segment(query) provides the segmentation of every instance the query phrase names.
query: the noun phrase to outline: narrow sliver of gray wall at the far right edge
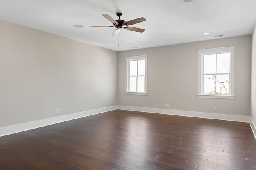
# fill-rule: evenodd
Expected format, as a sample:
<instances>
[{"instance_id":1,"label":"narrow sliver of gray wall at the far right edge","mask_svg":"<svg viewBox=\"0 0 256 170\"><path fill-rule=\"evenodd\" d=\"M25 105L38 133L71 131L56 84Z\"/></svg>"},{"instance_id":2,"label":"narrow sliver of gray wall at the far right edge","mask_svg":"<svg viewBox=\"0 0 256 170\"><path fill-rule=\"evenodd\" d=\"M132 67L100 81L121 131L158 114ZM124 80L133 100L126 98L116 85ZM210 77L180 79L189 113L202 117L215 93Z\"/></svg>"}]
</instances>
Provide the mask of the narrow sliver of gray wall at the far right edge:
<instances>
[{"instance_id":1,"label":"narrow sliver of gray wall at the far right edge","mask_svg":"<svg viewBox=\"0 0 256 170\"><path fill-rule=\"evenodd\" d=\"M256 125L256 25L252 33L251 117Z\"/></svg>"}]
</instances>

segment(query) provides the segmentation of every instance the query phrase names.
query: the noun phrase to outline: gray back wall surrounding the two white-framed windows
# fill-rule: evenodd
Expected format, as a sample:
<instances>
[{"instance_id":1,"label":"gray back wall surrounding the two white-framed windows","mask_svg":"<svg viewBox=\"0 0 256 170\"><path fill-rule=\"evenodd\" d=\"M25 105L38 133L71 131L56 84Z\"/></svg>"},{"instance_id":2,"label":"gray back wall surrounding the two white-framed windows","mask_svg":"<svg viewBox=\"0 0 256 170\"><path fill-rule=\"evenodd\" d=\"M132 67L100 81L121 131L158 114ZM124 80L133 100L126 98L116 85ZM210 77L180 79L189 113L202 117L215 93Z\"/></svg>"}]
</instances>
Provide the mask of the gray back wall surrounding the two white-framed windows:
<instances>
[{"instance_id":1,"label":"gray back wall surrounding the two white-framed windows","mask_svg":"<svg viewBox=\"0 0 256 170\"><path fill-rule=\"evenodd\" d=\"M236 46L235 99L198 98L197 50L227 46ZM125 57L136 55L148 55L147 96L124 94ZM249 116L250 75L251 36L122 51L118 52L118 105Z\"/></svg>"}]
</instances>

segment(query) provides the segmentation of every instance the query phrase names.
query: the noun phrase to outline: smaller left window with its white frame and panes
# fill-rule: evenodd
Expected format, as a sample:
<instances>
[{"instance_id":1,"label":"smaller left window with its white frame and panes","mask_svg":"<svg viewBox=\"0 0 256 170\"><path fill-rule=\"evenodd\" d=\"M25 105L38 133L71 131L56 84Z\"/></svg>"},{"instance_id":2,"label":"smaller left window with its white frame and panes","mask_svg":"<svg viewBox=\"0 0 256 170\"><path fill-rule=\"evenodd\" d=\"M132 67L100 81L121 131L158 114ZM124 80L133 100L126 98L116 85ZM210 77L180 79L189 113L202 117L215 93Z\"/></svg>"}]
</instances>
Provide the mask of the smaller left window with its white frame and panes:
<instances>
[{"instance_id":1,"label":"smaller left window with its white frame and panes","mask_svg":"<svg viewBox=\"0 0 256 170\"><path fill-rule=\"evenodd\" d=\"M147 95L147 55L125 57L125 94Z\"/></svg>"}]
</instances>

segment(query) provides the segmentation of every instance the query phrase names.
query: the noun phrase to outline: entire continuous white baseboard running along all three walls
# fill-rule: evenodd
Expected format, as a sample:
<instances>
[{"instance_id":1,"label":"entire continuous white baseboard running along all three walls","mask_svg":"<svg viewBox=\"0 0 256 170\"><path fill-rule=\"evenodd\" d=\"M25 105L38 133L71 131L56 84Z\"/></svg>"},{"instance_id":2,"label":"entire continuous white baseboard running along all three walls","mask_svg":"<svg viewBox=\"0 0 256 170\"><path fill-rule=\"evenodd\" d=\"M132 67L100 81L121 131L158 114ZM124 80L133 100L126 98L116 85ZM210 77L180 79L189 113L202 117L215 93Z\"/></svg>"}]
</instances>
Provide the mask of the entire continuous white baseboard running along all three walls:
<instances>
[{"instance_id":1,"label":"entire continuous white baseboard running along all three walls","mask_svg":"<svg viewBox=\"0 0 256 170\"><path fill-rule=\"evenodd\" d=\"M83 111L80 113L74 113L69 115L52 117L48 119L42 119L38 121L32 121L28 123L22 123L18 125L0 127L0 137L5 135L10 135L13 133L36 129L38 127L52 125L55 123L78 119L81 117L96 115L99 113L104 113L104 112L112 111L116 109L129 110L129 111L141 111L141 112L148 112L148 113L160 113L160 114L168 114L168 115L178 115L178 116L188 116L188 117L199 117L199 118L206 118L206 119L247 122L247 123L250 123L251 129L256 139L256 126L249 116L226 115L226 114L218 114L218 113L204 113L204 112L158 109L158 108L150 108L150 107L134 107L134 106L110 106L110 107L104 107L100 109Z\"/></svg>"}]
</instances>

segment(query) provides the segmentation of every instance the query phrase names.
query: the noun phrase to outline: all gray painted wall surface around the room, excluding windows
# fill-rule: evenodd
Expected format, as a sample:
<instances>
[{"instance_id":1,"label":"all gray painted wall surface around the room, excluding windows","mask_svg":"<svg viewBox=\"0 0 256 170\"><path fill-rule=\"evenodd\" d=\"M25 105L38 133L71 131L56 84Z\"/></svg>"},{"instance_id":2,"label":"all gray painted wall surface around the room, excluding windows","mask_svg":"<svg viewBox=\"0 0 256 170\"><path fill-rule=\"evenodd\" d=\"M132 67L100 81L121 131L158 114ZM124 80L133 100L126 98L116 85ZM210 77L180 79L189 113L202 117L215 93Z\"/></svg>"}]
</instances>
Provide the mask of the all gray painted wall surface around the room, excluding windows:
<instances>
[{"instance_id":1,"label":"all gray painted wall surface around the room, excluding windows","mask_svg":"<svg viewBox=\"0 0 256 170\"><path fill-rule=\"evenodd\" d=\"M114 105L138 106L138 101L140 107L246 116L256 112L255 33L252 39L243 36L117 53L2 20L0 27L0 127ZM198 98L197 50L234 45L235 99ZM137 55L148 55L147 96L124 94L124 57ZM58 115L55 109L60 109Z\"/></svg>"}]
</instances>

